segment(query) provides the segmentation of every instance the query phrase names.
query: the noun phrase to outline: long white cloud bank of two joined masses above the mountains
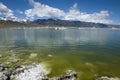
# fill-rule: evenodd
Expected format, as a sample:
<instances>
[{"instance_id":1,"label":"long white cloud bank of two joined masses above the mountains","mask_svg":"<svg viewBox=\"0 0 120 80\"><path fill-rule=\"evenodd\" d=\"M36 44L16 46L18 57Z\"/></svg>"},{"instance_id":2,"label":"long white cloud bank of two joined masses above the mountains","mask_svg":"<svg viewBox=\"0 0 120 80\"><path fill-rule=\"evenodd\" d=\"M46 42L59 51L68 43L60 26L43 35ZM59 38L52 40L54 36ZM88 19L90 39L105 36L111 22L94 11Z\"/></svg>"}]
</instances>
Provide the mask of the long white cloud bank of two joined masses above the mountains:
<instances>
[{"instance_id":1,"label":"long white cloud bank of two joined masses above the mountains","mask_svg":"<svg viewBox=\"0 0 120 80\"><path fill-rule=\"evenodd\" d=\"M95 22L95 23L112 23L111 20L107 19L109 17L109 12L106 10L100 12L94 12L92 14L81 12L77 9L77 3L75 3L68 12L64 12L58 8L54 8L34 0L29 0L33 8L25 11L27 18L37 17L57 17L65 20L79 20L86 22Z\"/></svg>"}]
</instances>

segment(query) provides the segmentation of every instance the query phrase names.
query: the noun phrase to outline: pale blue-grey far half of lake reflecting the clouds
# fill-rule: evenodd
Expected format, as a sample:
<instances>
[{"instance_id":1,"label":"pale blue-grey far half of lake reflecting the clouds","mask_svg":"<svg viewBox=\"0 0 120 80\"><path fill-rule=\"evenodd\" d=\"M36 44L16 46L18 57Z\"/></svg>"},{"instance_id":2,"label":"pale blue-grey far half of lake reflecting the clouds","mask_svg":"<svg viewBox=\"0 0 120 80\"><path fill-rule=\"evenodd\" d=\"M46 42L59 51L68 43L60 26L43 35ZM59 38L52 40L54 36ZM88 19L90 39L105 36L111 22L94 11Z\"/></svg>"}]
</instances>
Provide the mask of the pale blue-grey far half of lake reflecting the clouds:
<instances>
[{"instance_id":1,"label":"pale blue-grey far half of lake reflecting the clouds","mask_svg":"<svg viewBox=\"0 0 120 80\"><path fill-rule=\"evenodd\" d=\"M0 29L0 46L119 46L119 30Z\"/></svg>"}]
</instances>

